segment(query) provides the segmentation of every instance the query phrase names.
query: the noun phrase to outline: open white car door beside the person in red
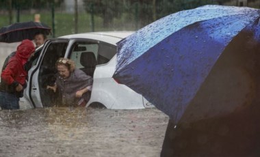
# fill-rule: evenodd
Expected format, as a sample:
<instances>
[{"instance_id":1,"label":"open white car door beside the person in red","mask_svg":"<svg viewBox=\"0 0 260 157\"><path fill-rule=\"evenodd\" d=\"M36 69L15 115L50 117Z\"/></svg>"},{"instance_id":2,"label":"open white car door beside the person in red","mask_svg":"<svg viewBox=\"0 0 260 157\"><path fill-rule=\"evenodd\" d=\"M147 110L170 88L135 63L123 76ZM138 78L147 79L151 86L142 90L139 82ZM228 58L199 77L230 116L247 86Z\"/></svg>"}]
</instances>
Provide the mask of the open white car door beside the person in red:
<instances>
[{"instance_id":1,"label":"open white car door beside the person in red","mask_svg":"<svg viewBox=\"0 0 260 157\"><path fill-rule=\"evenodd\" d=\"M53 94L47 90L47 85L55 82L55 63L64 57L68 40L54 39L44 44L39 57L28 72L28 87L25 98L34 107L53 106Z\"/></svg>"}]
</instances>

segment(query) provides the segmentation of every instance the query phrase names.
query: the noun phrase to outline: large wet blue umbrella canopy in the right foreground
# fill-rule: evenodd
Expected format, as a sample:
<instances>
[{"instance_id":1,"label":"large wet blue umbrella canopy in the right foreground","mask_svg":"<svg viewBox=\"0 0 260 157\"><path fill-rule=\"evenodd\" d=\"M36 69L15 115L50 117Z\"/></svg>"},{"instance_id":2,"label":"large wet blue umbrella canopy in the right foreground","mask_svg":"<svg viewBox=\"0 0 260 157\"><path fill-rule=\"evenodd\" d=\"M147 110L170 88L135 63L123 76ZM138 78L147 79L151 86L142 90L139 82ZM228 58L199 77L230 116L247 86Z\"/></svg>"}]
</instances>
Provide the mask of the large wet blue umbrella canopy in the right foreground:
<instances>
[{"instance_id":1,"label":"large wet blue umbrella canopy in the right foreground","mask_svg":"<svg viewBox=\"0 0 260 157\"><path fill-rule=\"evenodd\" d=\"M175 123L237 111L255 98L259 17L220 5L170 14L118 42L113 77Z\"/></svg>"}]
</instances>

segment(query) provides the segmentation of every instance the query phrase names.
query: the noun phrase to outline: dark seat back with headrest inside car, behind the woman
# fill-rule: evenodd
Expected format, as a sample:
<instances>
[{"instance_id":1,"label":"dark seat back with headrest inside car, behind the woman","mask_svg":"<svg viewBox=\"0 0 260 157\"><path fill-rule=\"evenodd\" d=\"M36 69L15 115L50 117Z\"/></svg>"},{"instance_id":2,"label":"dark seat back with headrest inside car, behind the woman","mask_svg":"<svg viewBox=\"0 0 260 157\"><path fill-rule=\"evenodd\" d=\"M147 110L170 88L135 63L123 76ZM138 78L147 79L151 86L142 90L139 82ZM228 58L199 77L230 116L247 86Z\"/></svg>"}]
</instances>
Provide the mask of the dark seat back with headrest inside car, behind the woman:
<instances>
[{"instance_id":1,"label":"dark seat back with headrest inside car, behind the woman","mask_svg":"<svg viewBox=\"0 0 260 157\"><path fill-rule=\"evenodd\" d=\"M94 74L94 70L96 68L96 57L93 52L82 52L80 56L80 63L83 68L80 68L83 72L85 72L88 76L92 76Z\"/></svg>"}]
</instances>

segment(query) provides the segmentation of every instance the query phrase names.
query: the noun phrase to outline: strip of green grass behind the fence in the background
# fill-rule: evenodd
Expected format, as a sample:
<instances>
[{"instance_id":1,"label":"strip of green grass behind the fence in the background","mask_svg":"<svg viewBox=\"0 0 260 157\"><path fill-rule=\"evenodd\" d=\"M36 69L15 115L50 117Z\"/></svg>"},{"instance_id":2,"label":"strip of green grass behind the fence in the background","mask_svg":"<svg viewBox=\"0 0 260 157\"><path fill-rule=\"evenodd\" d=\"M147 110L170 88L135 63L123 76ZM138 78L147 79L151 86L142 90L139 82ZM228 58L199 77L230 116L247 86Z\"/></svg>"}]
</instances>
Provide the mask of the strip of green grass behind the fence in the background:
<instances>
[{"instance_id":1,"label":"strip of green grass behind the fence in the background","mask_svg":"<svg viewBox=\"0 0 260 157\"><path fill-rule=\"evenodd\" d=\"M37 12L40 14L40 21L49 25L52 28L55 27L54 35L51 37L58 37L62 35L68 35L75 33L75 17L74 14L55 12L54 25L52 23L51 11L47 12ZM16 14L13 12L13 23L16 23ZM20 22L34 20L34 13L21 12ZM122 20L113 20L114 25L111 27L103 27L103 19L99 16L94 16L94 31L120 31L120 30L134 30L133 25L122 22ZM121 22L120 22L121 21ZM122 24L123 23L123 24ZM129 22L131 23L131 22ZM9 16L7 13L0 12L0 27L5 27L9 25ZM79 13L78 14L78 33L85 33L92 31L90 14Z\"/></svg>"}]
</instances>

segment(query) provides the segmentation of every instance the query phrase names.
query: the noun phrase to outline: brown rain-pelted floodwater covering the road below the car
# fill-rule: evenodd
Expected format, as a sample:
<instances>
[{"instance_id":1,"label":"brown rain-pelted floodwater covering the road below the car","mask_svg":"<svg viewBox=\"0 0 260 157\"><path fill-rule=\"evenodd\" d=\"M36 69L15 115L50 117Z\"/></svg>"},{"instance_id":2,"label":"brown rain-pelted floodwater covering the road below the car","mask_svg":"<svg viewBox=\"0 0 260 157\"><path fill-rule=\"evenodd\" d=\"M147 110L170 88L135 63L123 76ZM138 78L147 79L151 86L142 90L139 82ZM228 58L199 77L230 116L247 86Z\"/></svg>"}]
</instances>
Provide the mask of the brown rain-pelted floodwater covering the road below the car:
<instances>
[{"instance_id":1,"label":"brown rain-pelted floodwater covering the road below the car","mask_svg":"<svg viewBox=\"0 0 260 157\"><path fill-rule=\"evenodd\" d=\"M159 156L167 124L155 108L0 110L0 156Z\"/></svg>"}]
</instances>

